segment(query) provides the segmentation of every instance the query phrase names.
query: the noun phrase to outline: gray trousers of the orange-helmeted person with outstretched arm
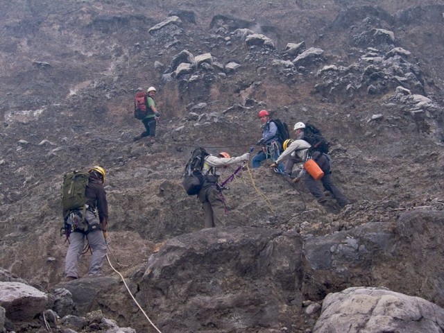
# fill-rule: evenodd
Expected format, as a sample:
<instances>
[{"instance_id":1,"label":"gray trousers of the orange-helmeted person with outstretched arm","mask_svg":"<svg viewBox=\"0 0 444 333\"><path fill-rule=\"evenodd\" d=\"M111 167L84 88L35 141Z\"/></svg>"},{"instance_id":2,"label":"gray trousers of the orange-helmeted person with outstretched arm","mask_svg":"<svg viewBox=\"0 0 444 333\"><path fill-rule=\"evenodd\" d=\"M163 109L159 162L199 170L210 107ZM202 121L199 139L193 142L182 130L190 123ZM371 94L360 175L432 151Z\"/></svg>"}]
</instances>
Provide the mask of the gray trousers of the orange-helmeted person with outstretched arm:
<instances>
[{"instance_id":1,"label":"gray trousers of the orange-helmeted person with outstretched arm","mask_svg":"<svg viewBox=\"0 0 444 333\"><path fill-rule=\"evenodd\" d=\"M198 198L205 212L204 228L226 225L225 203L215 186L200 190Z\"/></svg>"}]
</instances>

